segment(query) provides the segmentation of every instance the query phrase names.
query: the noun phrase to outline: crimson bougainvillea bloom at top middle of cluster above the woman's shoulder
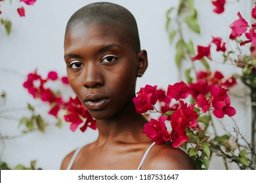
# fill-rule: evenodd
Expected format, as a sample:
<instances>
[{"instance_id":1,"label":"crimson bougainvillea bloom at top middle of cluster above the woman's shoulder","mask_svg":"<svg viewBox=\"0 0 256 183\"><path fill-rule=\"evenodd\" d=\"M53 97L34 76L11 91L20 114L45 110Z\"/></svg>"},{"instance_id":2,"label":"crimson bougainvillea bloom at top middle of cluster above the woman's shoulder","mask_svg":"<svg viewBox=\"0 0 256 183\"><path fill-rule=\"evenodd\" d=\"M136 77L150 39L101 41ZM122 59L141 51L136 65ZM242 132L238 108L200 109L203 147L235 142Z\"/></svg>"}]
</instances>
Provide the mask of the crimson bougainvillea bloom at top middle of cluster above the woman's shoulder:
<instances>
[{"instance_id":1,"label":"crimson bougainvillea bloom at top middle of cluster above the woman's shoulder","mask_svg":"<svg viewBox=\"0 0 256 183\"><path fill-rule=\"evenodd\" d=\"M183 81L177 82L173 85L169 84L167 89L167 97L169 97L170 99L175 99L176 101L179 101L179 99L186 99L188 95L188 85Z\"/></svg>"}]
</instances>

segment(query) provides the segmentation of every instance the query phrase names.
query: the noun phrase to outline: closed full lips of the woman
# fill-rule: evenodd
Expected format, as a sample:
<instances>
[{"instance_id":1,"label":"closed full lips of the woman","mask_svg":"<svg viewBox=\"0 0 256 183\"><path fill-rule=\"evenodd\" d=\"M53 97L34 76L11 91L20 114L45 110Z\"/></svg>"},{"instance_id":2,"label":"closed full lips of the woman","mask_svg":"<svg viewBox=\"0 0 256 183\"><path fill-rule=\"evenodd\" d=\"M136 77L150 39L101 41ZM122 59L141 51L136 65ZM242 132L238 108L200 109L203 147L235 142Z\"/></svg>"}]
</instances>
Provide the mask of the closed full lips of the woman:
<instances>
[{"instance_id":1,"label":"closed full lips of the woman","mask_svg":"<svg viewBox=\"0 0 256 183\"><path fill-rule=\"evenodd\" d=\"M105 107L110 98L100 93L89 94L85 97L84 103L87 109L98 110Z\"/></svg>"}]
</instances>

